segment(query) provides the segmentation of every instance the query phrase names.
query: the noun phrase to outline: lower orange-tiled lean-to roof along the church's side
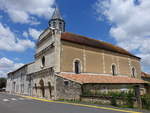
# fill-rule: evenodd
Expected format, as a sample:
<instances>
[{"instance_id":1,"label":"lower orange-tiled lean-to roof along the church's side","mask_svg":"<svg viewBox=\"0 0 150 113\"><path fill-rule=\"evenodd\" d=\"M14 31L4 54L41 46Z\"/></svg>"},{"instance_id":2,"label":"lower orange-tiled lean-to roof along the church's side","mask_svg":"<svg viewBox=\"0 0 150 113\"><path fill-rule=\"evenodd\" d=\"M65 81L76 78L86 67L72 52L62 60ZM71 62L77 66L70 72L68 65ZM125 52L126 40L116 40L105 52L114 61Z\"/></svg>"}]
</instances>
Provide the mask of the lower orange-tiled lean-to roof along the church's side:
<instances>
[{"instance_id":1,"label":"lower orange-tiled lean-to roof along the church's side","mask_svg":"<svg viewBox=\"0 0 150 113\"><path fill-rule=\"evenodd\" d=\"M111 76L111 75L88 75L88 74L59 74L58 76L78 82L86 83L102 83L102 84L141 84L143 80L131 78L127 76Z\"/></svg>"}]
</instances>

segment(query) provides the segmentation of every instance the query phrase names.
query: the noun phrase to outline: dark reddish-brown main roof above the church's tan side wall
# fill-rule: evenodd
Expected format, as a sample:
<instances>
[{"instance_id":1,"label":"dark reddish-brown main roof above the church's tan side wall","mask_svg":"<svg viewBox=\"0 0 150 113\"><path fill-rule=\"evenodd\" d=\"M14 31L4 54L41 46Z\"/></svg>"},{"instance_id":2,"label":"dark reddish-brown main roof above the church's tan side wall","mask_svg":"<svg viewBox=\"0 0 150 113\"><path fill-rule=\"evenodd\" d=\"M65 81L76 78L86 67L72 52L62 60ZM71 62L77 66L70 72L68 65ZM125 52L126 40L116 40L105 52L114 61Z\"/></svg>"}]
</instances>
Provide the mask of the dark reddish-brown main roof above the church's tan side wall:
<instances>
[{"instance_id":1,"label":"dark reddish-brown main roof above the church's tan side wall","mask_svg":"<svg viewBox=\"0 0 150 113\"><path fill-rule=\"evenodd\" d=\"M127 50L125 50L123 48L120 48L118 46L115 46L115 45L112 45L110 43L106 43L106 42L103 42L100 40L88 38L85 36L81 36L81 35L77 35L77 34L73 34L73 33L69 33L69 32L64 32L61 35L61 39L65 40L65 41L73 42L73 43L78 43L78 44L87 45L87 46L91 46L91 47L95 47L95 48L100 48L100 49L104 49L104 50L108 50L108 51L112 51L112 52L117 52L120 54L132 56L132 57L136 57L136 58L140 59L139 57L129 53Z\"/></svg>"}]
</instances>

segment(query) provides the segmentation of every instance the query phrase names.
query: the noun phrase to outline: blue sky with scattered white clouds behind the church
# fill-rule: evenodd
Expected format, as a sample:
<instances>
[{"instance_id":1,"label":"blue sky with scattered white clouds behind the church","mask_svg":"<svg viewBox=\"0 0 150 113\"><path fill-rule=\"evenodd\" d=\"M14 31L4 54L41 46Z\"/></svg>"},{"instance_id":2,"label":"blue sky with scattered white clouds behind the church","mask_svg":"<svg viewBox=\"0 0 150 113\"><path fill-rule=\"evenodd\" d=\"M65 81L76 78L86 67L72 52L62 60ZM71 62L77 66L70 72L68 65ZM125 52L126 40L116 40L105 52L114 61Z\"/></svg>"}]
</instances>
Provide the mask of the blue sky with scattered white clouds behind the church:
<instances>
[{"instance_id":1,"label":"blue sky with scattered white clouds behind the church","mask_svg":"<svg viewBox=\"0 0 150 113\"><path fill-rule=\"evenodd\" d=\"M35 42L58 5L66 31L121 46L150 72L149 0L0 0L0 76L34 61Z\"/></svg>"}]
</instances>

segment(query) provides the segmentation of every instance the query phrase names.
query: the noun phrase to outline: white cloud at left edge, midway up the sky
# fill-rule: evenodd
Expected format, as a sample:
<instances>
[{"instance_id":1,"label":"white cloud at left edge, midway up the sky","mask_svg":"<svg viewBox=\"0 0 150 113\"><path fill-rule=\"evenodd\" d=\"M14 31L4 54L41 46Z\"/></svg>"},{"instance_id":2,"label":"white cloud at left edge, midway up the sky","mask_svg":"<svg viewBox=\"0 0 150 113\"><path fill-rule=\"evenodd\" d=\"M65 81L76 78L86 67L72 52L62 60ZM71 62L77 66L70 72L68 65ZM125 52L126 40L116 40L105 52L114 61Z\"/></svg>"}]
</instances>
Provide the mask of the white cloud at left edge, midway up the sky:
<instances>
[{"instance_id":1,"label":"white cloud at left edge, midway up the sky","mask_svg":"<svg viewBox=\"0 0 150 113\"><path fill-rule=\"evenodd\" d=\"M0 50L24 51L33 47L34 42L17 38L9 27L0 23Z\"/></svg>"}]
</instances>

